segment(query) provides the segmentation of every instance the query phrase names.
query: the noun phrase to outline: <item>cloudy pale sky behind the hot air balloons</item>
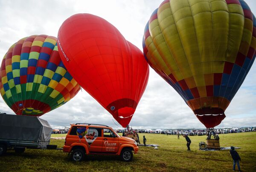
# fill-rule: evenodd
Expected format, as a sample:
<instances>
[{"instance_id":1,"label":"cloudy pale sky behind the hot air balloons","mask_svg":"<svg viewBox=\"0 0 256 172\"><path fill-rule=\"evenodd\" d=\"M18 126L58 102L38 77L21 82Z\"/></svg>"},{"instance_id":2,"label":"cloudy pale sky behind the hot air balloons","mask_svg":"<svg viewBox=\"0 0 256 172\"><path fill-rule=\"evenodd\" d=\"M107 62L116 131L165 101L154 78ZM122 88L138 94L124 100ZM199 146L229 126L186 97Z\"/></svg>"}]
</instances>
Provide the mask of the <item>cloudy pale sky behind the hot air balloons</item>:
<instances>
[{"instance_id":1,"label":"cloudy pale sky behind the hot air balloons","mask_svg":"<svg viewBox=\"0 0 256 172\"><path fill-rule=\"evenodd\" d=\"M254 14L256 1L245 0ZM47 34L57 37L61 24L73 14L90 13L108 20L126 40L142 50L142 37L151 13L162 0L0 0L0 59L9 47L23 37ZM233 98L217 126L256 126L256 64ZM0 97L0 112L13 114ZM70 123L101 123L121 128L112 116L82 90L64 106L41 118L53 128ZM119 126L119 127L118 127ZM145 93L130 122L133 128L204 128L180 95L152 69Z\"/></svg>"}]
</instances>

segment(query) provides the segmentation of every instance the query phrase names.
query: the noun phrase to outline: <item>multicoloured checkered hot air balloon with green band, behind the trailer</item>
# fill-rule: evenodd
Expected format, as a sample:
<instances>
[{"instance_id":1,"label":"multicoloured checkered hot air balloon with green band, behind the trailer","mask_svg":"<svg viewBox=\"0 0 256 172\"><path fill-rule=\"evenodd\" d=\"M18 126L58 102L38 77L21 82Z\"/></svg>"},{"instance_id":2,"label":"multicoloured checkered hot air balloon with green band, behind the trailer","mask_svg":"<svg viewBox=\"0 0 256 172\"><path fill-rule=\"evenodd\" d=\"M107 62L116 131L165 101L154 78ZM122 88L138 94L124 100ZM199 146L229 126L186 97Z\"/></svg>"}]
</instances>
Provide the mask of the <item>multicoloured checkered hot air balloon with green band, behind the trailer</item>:
<instances>
[{"instance_id":1,"label":"multicoloured checkered hot air balloon with green band, behind the trailer","mask_svg":"<svg viewBox=\"0 0 256 172\"><path fill-rule=\"evenodd\" d=\"M17 115L41 116L66 103L79 89L61 61L56 37L25 37L3 57L0 92Z\"/></svg>"}]
</instances>

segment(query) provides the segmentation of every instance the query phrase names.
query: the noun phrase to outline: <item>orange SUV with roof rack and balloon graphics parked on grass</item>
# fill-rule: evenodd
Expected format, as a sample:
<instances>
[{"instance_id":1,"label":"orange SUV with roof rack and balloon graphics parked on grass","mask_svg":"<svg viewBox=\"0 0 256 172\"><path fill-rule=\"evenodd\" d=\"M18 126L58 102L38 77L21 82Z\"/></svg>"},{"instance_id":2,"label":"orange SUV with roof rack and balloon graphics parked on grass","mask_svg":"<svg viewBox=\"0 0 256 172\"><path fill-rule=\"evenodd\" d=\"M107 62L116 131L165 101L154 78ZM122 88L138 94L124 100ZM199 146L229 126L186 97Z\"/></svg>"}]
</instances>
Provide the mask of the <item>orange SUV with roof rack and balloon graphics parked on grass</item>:
<instances>
[{"instance_id":1,"label":"orange SUV with roof rack and balloon graphics parked on grass","mask_svg":"<svg viewBox=\"0 0 256 172\"><path fill-rule=\"evenodd\" d=\"M137 153L137 142L119 136L111 127L99 124L72 124L65 138L64 152L71 152L73 161L82 161L85 154L120 155L122 161L129 162L133 152Z\"/></svg>"}]
</instances>

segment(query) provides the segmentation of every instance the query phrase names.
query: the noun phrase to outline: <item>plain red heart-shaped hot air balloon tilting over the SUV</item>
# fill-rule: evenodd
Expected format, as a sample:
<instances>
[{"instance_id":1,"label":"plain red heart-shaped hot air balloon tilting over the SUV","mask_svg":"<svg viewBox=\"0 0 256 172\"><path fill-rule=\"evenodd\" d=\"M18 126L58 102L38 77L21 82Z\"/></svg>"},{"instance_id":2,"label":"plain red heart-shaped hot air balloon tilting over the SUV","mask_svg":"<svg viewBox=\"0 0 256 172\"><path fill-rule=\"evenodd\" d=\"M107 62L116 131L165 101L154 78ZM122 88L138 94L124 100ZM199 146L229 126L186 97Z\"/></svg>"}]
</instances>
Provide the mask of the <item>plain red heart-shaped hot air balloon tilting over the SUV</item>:
<instances>
[{"instance_id":1,"label":"plain red heart-shaped hot air balloon tilting over the SUV","mask_svg":"<svg viewBox=\"0 0 256 172\"><path fill-rule=\"evenodd\" d=\"M75 14L58 32L60 56L70 74L126 127L148 83L143 53L108 21Z\"/></svg>"}]
</instances>

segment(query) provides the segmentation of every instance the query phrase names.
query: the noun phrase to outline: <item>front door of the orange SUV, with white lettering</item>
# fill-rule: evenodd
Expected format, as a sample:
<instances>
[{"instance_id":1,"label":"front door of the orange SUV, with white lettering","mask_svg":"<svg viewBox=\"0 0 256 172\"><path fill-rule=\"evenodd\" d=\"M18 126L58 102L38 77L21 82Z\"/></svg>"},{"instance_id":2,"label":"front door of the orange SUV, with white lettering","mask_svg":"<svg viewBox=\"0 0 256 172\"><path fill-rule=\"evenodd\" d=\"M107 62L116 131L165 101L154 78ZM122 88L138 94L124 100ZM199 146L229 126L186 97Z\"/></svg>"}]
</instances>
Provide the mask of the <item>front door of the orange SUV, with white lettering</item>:
<instances>
[{"instance_id":1,"label":"front door of the orange SUV, with white lettering","mask_svg":"<svg viewBox=\"0 0 256 172\"><path fill-rule=\"evenodd\" d=\"M102 152L117 153L119 137L111 129L103 129Z\"/></svg>"}]
</instances>

